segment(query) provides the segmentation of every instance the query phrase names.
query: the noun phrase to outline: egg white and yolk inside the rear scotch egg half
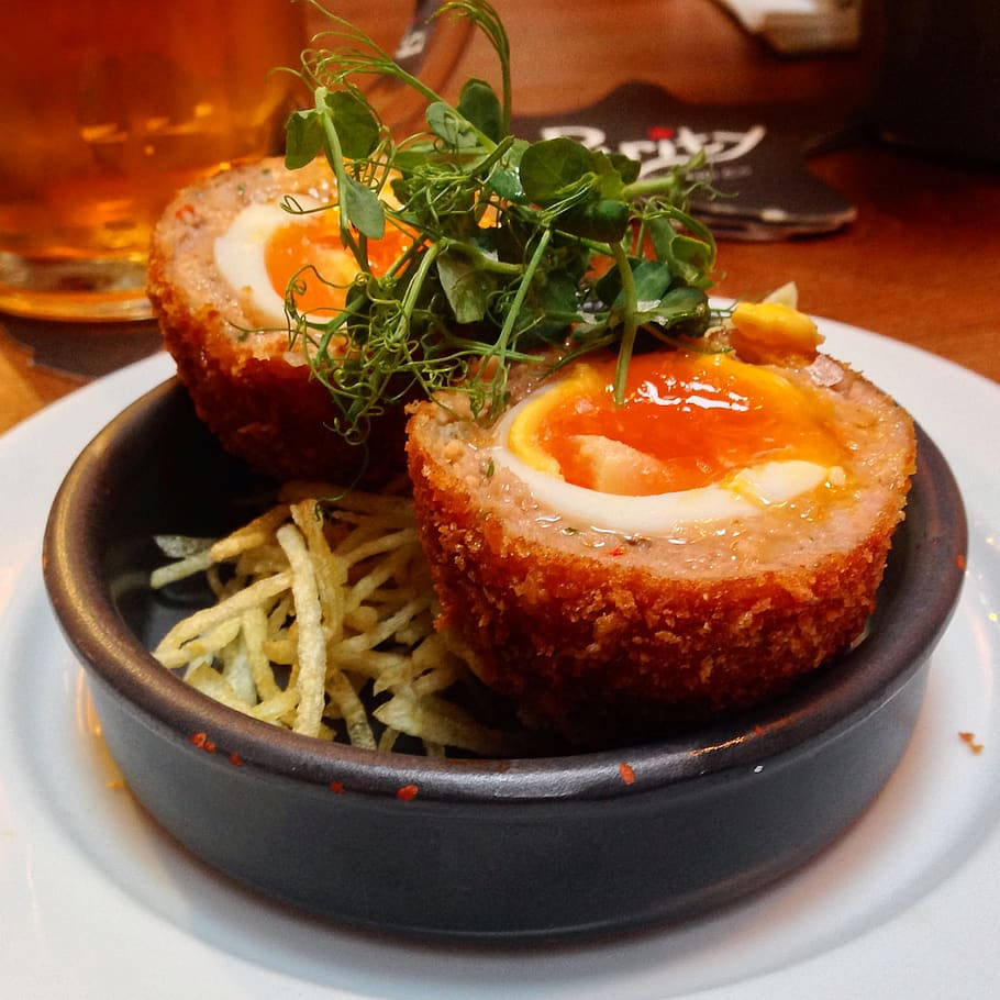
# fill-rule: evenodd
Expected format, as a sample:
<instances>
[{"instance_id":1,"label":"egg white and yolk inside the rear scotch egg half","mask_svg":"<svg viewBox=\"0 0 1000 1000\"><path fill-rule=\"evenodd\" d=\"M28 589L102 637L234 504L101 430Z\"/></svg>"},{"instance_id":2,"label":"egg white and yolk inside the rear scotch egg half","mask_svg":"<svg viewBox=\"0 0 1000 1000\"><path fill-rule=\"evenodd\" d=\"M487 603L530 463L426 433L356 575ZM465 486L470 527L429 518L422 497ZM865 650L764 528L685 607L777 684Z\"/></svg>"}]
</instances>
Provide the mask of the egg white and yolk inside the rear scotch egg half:
<instances>
[{"instance_id":1,"label":"egg white and yolk inside the rear scotch egg half","mask_svg":"<svg viewBox=\"0 0 1000 1000\"><path fill-rule=\"evenodd\" d=\"M314 318L335 315L360 268L341 243L336 208L323 208L308 195L295 195L302 210L290 212L281 201L247 205L215 240L215 267L263 322L284 326L285 293L296 281L296 308ZM367 243L375 275L385 274L409 243L398 229Z\"/></svg>"}]
</instances>

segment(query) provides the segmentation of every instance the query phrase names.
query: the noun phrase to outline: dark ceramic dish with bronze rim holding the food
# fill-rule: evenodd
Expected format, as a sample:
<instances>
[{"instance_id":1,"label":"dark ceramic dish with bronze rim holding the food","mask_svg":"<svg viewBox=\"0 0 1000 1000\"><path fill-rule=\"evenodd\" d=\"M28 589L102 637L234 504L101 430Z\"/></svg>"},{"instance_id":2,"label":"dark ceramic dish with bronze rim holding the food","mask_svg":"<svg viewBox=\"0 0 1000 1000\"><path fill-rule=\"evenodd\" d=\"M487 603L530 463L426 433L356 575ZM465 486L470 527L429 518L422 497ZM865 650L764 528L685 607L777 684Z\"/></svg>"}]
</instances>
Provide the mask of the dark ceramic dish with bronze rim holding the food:
<instances>
[{"instance_id":1,"label":"dark ceramic dish with bronze rim holding the food","mask_svg":"<svg viewBox=\"0 0 1000 1000\"><path fill-rule=\"evenodd\" d=\"M688 918L767 885L888 779L966 548L958 490L923 434L919 465L857 649L740 718L604 753L458 762L358 751L244 718L160 667L146 648L180 611L148 595L152 536L233 527L266 490L219 451L174 382L125 410L66 477L45 579L129 786L210 865L358 926L593 934ZM397 796L411 785L415 798Z\"/></svg>"}]
</instances>

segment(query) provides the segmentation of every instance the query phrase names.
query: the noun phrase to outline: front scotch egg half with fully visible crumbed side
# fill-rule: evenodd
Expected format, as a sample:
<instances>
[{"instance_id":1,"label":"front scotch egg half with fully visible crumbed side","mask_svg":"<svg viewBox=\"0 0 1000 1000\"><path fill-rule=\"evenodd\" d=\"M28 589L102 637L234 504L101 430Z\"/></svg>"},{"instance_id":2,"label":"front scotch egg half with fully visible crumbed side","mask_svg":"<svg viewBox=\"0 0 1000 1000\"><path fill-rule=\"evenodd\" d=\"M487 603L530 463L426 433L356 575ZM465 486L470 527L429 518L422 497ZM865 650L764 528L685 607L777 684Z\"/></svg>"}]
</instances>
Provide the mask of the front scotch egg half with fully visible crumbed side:
<instances>
[{"instance_id":1,"label":"front scotch egg half with fully visible crumbed side","mask_svg":"<svg viewBox=\"0 0 1000 1000\"><path fill-rule=\"evenodd\" d=\"M742 319L734 340L771 349ZM912 421L818 338L771 341L780 366L636 356L621 407L609 357L521 366L489 427L459 398L412 409L443 624L526 720L582 744L662 731L773 697L862 634Z\"/></svg>"}]
</instances>

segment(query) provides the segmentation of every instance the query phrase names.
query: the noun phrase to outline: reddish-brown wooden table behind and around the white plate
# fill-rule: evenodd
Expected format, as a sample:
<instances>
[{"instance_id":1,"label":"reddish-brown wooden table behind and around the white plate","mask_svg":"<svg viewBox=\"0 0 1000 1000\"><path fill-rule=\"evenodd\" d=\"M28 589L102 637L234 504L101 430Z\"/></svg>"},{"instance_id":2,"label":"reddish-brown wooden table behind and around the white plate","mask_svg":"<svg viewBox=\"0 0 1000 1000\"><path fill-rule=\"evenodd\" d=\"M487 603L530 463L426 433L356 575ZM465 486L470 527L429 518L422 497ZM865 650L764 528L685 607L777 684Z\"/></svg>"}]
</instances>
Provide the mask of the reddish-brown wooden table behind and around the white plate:
<instances>
[{"instance_id":1,"label":"reddish-brown wooden table behind and around the white plate","mask_svg":"<svg viewBox=\"0 0 1000 1000\"><path fill-rule=\"evenodd\" d=\"M837 108L863 103L869 86L865 56L777 56L710 0L499 0L498 7L511 37L521 114L581 107L630 79L659 84L687 101L795 99ZM477 40L457 78L495 78L495 66ZM875 142L822 155L812 168L857 205L857 221L810 240L722 243L718 291L753 297L793 279L810 312L1000 381L995 174ZM100 335L79 329L80 337ZM82 381L33 364L27 349L0 335L0 431Z\"/></svg>"}]
</instances>

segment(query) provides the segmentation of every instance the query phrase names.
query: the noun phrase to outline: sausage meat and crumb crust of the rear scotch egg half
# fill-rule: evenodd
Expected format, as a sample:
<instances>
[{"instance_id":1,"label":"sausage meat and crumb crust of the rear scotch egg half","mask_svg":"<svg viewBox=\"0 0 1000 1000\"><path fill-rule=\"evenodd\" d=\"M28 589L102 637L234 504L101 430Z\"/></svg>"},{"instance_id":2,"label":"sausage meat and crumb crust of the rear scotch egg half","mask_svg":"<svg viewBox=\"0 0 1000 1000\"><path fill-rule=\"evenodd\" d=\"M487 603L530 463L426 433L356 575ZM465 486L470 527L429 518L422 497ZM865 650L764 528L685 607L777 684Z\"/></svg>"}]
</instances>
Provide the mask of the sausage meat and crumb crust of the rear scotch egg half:
<instances>
[{"instance_id":1,"label":"sausage meat and crumb crust of the rear scotch egg half","mask_svg":"<svg viewBox=\"0 0 1000 1000\"><path fill-rule=\"evenodd\" d=\"M327 390L288 352L285 331L253 332L260 318L219 275L213 245L233 218L255 201L290 191L322 196L321 168L287 171L278 159L244 164L181 191L154 233L149 300L164 344L198 415L223 446L279 479L388 480L404 466L401 408L378 419L379 446L369 455L331 427L340 415Z\"/></svg>"}]
</instances>

